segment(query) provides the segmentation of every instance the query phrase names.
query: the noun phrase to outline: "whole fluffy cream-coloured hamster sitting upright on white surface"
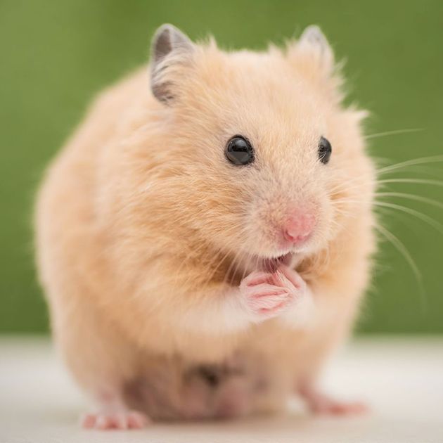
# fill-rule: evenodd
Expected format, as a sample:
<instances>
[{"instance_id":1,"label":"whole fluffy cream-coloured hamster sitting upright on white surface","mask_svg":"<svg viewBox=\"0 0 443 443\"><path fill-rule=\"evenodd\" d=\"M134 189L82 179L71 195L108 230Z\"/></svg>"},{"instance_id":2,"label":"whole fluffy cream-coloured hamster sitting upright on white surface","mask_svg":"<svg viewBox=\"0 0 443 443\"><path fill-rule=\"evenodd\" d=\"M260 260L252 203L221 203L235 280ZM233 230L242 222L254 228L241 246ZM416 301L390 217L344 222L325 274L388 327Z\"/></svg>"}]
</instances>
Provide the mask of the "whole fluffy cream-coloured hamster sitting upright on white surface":
<instances>
[{"instance_id":1,"label":"whole fluffy cream-coloured hamster sitting upright on white surface","mask_svg":"<svg viewBox=\"0 0 443 443\"><path fill-rule=\"evenodd\" d=\"M86 428L280 411L319 392L371 274L375 167L321 30L221 51L162 25L49 167L37 265ZM233 363L234 362L234 363ZM234 368L234 369L233 369Z\"/></svg>"}]
</instances>

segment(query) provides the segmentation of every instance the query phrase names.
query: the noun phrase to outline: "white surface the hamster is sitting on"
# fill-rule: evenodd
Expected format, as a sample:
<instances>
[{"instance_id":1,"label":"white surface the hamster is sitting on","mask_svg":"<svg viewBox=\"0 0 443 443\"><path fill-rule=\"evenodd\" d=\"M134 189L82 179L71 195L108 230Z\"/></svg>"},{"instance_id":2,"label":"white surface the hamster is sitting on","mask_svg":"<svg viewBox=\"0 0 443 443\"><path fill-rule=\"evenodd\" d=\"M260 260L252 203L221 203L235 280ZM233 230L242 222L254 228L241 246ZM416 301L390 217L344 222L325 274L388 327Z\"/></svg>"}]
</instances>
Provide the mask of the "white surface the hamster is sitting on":
<instances>
[{"instance_id":1,"label":"white surface the hamster is sitting on","mask_svg":"<svg viewBox=\"0 0 443 443\"><path fill-rule=\"evenodd\" d=\"M0 340L0 443L442 443L443 339L360 339L332 362L329 392L366 399L361 418L297 413L229 423L90 431L82 394L45 339Z\"/></svg>"}]
</instances>

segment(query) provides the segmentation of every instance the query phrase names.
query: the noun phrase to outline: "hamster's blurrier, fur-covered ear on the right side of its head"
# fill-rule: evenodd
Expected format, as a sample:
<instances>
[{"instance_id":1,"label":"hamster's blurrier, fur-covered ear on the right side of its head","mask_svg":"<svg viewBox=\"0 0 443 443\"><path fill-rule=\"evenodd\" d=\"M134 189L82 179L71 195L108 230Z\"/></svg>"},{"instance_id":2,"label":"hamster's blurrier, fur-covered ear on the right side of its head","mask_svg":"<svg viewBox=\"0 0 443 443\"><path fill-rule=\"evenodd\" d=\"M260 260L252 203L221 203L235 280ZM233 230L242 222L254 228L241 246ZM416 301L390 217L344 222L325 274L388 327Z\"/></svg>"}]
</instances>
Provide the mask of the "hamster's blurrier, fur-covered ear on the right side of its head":
<instances>
[{"instance_id":1,"label":"hamster's blurrier, fur-covered ear on the right side of its head","mask_svg":"<svg viewBox=\"0 0 443 443\"><path fill-rule=\"evenodd\" d=\"M297 41L288 44L287 54L297 72L327 94L341 99L342 81L335 66L334 53L318 26L308 26Z\"/></svg>"}]
</instances>

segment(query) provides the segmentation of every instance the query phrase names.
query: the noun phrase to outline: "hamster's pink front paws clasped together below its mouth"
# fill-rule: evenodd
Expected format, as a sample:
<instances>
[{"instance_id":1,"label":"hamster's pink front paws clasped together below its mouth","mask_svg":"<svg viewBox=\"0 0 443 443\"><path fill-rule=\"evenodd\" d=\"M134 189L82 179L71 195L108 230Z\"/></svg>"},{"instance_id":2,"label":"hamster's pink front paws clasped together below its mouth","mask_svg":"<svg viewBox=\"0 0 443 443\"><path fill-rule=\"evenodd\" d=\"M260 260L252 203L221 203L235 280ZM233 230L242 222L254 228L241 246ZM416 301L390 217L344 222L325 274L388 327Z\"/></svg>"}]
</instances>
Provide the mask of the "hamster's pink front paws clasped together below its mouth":
<instances>
[{"instance_id":1,"label":"hamster's pink front paws clasped together below its mouth","mask_svg":"<svg viewBox=\"0 0 443 443\"><path fill-rule=\"evenodd\" d=\"M287 312L305 292L306 283L288 267L254 271L240 283L243 306L256 322Z\"/></svg>"}]
</instances>

